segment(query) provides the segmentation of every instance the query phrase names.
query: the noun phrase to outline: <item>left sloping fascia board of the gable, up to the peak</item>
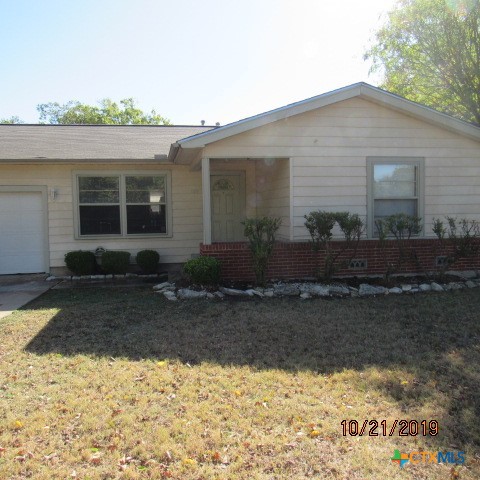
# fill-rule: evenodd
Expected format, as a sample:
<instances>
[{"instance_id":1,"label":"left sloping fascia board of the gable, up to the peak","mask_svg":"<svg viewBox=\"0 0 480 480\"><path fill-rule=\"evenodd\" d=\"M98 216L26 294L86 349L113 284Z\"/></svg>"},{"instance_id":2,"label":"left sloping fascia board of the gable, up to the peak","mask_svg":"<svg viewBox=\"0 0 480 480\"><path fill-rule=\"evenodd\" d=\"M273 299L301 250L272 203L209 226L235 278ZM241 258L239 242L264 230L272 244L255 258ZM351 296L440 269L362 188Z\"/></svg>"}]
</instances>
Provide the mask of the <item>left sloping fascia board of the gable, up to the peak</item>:
<instances>
[{"instance_id":1,"label":"left sloping fascia board of the gable, up to the peak","mask_svg":"<svg viewBox=\"0 0 480 480\"><path fill-rule=\"evenodd\" d=\"M292 103L284 107L270 110L253 117L248 117L238 122L230 123L223 127L210 130L205 133L199 133L192 137L187 137L179 140L177 143L182 148L202 148L212 142L217 142L232 135L252 130L253 128L262 127L277 120L283 120L293 115L315 110L320 107L325 107L332 103L348 100L350 98L360 95L361 84L357 83L348 87L335 90L333 92L324 93L316 97L308 98L300 102Z\"/></svg>"}]
</instances>

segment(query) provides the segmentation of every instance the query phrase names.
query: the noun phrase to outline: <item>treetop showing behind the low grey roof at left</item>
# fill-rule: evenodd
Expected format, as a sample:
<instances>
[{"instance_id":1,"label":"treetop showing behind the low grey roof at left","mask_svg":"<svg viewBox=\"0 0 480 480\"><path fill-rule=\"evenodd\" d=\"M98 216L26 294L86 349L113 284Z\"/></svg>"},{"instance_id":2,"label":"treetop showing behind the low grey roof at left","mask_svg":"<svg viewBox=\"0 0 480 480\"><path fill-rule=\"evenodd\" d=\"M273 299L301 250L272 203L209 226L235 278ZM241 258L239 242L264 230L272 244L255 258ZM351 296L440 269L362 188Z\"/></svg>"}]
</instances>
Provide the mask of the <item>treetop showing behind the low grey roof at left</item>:
<instances>
[{"instance_id":1,"label":"treetop showing behind the low grey roof at left","mask_svg":"<svg viewBox=\"0 0 480 480\"><path fill-rule=\"evenodd\" d=\"M63 105L57 102L37 106L40 123L74 125L170 125L170 121L155 110L143 112L135 105L133 98L119 103L104 98L96 105L70 101Z\"/></svg>"}]
</instances>

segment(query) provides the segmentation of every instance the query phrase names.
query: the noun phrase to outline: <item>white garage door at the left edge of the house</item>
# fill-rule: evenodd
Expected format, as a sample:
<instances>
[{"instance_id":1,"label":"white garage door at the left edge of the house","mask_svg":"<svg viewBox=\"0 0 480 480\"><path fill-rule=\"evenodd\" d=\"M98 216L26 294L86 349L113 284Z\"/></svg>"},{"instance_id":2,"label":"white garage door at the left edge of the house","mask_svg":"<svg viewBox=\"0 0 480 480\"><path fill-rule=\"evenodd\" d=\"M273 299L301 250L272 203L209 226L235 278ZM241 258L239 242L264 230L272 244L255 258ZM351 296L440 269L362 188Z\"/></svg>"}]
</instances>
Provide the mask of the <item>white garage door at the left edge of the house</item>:
<instances>
[{"instance_id":1,"label":"white garage door at the left edge of the house","mask_svg":"<svg viewBox=\"0 0 480 480\"><path fill-rule=\"evenodd\" d=\"M41 192L0 192L0 274L46 270Z\"/></svg>"}]
</instances>

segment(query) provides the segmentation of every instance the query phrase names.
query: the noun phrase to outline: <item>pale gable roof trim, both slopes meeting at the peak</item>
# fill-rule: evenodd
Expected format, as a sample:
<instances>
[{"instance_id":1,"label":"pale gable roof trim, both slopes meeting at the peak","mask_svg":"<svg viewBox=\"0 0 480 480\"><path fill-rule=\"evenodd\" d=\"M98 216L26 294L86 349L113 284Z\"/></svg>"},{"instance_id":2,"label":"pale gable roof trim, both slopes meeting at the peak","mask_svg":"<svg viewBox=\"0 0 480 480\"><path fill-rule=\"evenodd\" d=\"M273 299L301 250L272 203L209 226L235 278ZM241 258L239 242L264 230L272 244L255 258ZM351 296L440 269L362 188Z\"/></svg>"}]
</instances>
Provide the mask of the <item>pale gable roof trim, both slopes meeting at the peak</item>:
<instances>
[{"instance_id":1,"label":"pale gable roof trim, both slopes meeting at the peak","mask_svg":"<svg viewBox=\"0 0 480 480\"><path fill-rule=\"evenodd\" d=\"M438 112L430 107L407 100L399 95L374 87L368 83L360 82L331 92L323 93L316 97L307 98L300 102L285 105L268 112L247 117L222 127L185 137L177 142L181 148L202 148L209 143L223 140L224 138L238 135L239 133L267 125L278 120L283 120L293 115L309 112L333 103L348 100L354 97L364 98L375 103L393 108L405 114L420 118L437 126L447 128L474 140L480 140L480 128L471 123L459 120L445 113ZM177 153L177 152L176 152ZM170 155L169 155L170 157Z\"/></svg>"}]
</instances>

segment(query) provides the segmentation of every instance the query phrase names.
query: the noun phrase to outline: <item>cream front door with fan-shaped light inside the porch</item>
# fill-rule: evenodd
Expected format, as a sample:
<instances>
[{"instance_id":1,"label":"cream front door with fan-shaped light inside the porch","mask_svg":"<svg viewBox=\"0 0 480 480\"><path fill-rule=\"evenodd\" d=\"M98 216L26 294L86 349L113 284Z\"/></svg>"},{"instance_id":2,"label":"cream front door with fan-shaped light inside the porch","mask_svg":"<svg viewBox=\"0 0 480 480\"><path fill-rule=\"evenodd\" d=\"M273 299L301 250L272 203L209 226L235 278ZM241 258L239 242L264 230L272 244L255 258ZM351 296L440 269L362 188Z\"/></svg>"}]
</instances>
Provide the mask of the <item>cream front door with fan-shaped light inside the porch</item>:
<instances>
[{"instance_id":1,"label":"cream front door with fan-shaped light inside the porch","mask_svg":"<svg viewBox=\"0 0 480 480\"><path fill-rule=\"evenodd\" d=\"M210 177L212 204L212 242L243 240L245 216L245 176L242 174L212 174Z\"/></svg>"}]
</instances>

